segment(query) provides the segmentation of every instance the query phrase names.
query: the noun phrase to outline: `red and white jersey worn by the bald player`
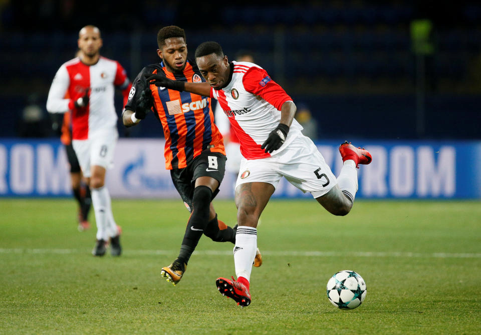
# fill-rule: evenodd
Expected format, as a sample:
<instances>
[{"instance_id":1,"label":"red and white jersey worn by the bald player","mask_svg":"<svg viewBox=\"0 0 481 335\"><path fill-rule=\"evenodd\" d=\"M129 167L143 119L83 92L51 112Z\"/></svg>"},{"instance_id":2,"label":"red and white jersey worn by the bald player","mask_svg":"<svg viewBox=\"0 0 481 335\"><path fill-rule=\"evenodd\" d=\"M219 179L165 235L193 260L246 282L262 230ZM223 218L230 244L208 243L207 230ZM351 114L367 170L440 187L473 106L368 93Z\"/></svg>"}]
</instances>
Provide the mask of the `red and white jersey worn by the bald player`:
<instances>
[{"instance_id":1,"label":"red and white jersey worn by the bald player","mask_svg":"<svg viewBox=\"0 0 481 335\"><path fill-rule=\"evenodd\" d=\"M87 139L97 130L117 124L114 107L114 86L122 89L124 105L131 87L129 78L119 62L100 57L94 65L74 58L60 66L50 86L47 110L51 113L72 112L72 139ZM75 108L73 101L89 90L86 107ZM65 98L68 92L70 98Z\"/></svg>"}]
</instances>

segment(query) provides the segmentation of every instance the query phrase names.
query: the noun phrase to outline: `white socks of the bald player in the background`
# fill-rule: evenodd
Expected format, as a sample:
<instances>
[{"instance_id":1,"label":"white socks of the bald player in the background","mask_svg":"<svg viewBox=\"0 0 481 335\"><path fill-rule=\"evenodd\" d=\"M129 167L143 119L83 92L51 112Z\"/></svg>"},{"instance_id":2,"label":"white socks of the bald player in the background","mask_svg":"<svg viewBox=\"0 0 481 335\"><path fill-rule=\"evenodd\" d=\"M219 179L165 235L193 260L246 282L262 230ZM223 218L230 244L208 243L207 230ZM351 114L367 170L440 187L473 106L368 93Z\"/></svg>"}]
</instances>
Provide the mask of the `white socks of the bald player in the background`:
<instances>
[{"instance_id":1,"label":"white socks of the bald player in the background","mask_svg":"<svg viewBox=\"0 0 481 335\"><path fill-rule=\"evenodd\" d=\"M109 240L118 234L117 224L112 214L110 194L106 186L92 188L92 205L97 223L97 239Z\"/></svg>"}]
</instances>

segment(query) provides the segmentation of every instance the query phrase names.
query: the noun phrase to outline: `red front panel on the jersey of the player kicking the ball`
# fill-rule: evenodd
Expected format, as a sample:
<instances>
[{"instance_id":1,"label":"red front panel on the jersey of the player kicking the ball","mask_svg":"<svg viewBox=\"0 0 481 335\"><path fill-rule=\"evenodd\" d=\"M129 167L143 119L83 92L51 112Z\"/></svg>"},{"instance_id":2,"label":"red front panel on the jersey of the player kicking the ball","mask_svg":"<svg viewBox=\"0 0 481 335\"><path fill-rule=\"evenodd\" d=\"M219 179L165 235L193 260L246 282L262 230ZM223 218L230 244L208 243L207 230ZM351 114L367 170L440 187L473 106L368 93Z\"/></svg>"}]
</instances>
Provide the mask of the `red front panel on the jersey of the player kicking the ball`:
<instances>
[{"instance_id":1,"label":"red front panel on the jersey of the player kicking the ball","mask_svg":"<svg viewBox=\"0 0 481 335\"><path fill-rule=\"evenodd\" d=\"M225 98L225 93L223 90L218 90L218 101L220 106L222 107L223 110L231 110L227 103L227 99ZM259 158L266 158L270 157L271 154L264 152L263 149L261 149L261 144L256 143L256 141L244 131L242 127L240 127L239 123L235 119L234 116L229 117L230 121L230 130L234 130L235 135L239 139L240 143L240 153L247 158L247 159L259 159Z\"/></svg>"}]
</instances>

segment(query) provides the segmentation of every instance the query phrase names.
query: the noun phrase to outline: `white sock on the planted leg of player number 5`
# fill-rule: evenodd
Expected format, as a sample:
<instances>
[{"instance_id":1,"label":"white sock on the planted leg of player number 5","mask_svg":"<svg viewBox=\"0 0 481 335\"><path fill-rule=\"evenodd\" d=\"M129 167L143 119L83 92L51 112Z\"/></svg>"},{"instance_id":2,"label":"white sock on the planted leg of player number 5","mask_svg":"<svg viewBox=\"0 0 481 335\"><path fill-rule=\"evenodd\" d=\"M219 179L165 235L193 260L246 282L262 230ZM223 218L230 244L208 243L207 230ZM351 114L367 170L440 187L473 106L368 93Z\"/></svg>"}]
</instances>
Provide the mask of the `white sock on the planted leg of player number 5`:
<instances>
[{"instance_id":1,"label":"white sock on the planted leg of player number 5","mask_svg":"<svg viewBox=\"0 0 481 335\"><path fill-rule=\"evenodd\" d=\"M242 276L250 280L256 250L257 228L238 226L234 246L235 275L237 278Z\"/></svg>"}]
</instances>

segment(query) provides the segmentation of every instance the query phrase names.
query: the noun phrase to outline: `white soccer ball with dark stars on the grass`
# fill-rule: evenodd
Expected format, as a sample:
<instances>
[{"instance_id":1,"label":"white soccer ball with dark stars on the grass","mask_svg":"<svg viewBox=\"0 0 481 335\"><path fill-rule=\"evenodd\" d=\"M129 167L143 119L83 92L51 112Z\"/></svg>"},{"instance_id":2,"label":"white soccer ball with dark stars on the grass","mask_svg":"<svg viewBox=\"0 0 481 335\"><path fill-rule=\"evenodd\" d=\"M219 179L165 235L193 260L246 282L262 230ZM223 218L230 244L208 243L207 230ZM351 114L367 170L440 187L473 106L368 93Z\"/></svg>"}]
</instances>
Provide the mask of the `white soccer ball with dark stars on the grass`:
<instances>
[{"instance_id":1,"label":"white soccer ball with dark stars on the grass","mask_svg":"<svg viewBox=\"0 0 481 335\"><path fill-rule=\"evenodd\" d=\"M336 307L354 309L366 298L366 282L354 271L339 271L327 282L327 297Z\"/></svg>"}]
</instances>

